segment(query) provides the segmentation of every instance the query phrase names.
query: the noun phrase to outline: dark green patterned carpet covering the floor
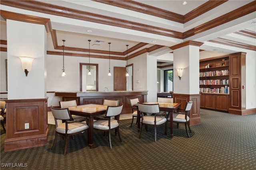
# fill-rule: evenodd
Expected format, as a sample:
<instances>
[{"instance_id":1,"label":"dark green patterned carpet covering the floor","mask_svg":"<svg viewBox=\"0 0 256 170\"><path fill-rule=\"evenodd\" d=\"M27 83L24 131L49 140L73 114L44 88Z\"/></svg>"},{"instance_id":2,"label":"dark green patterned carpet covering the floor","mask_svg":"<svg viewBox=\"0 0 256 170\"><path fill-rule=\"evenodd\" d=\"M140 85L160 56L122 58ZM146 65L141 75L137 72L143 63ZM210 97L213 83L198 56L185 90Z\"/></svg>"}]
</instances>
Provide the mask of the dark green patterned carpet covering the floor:
<instances>
[{"instance_id":1,"label":"dark green patterned carpet covering the floor","mask_svg":"<svg viewBox=\"0 0 256 170\"><path fill-rule=\"evenodd\" d=\"M120 120L120 134L112 133L112 149L108 137L94 131L94 149L87 145L87 134L69 140L64 156L64 141L58 138L54 150L54 125L49 125L48 144L42 147L4 152L5 133L1 127L1 170L255 170L256 169L256 114L232 115L201 109L201 124L191 126L187 137L184 125L176 129L174 138L164 135L164 127L143 130L139 139L131 119ZM168 131L169 132L169 131ZM7 168L4 163L23 163L24 168Z\"/></svg>"}]
</instances>

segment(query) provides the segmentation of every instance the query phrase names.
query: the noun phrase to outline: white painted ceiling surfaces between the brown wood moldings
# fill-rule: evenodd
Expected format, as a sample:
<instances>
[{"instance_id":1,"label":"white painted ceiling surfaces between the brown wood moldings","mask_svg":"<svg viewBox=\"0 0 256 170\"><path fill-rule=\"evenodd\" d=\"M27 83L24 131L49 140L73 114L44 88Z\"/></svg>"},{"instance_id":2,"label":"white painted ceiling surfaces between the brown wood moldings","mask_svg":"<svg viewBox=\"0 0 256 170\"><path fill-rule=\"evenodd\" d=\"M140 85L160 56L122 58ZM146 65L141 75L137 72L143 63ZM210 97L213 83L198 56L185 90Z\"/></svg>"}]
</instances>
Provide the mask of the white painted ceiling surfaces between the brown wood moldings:
<instances>
[{"instance_id":1,"label":"white painted ceiling surfaces between the brown wood moldings","mask_svg":"<svg viewBox=\"0 0 256 170\"><path fill-rule=\"evenodd\" d=\"M91 0L40 0L40 2L54 4L57 6L64 6L66 8L73 8L76 10L91 12L94 14L100 14L104 16L109 16L113 18L119 18L122 20L133 21L138 23L144 23L146 25L153 25L157 27L162 27L165 29L170 29L179 32L185 32L189 29L197 27L203 23L206 23L210 20L218 18L232 10L235 10L241 6L244 6L252 0L230 0L224 4L217 6L216 8L190 20L184 24L177 23L174 21L166 20L163 18L158 18L156 16L151 16L148 14L143 14L141 12L135 12L132 10L127 10L124 8L119 8L116 6L111 6L108 4L103 4ZM146 5L154 6L156 8L164 9L176 14L185 15L188 12L198 8L206 0L187 0L186 5L182 5L182 0L137 0L136 2L144 3ZM90 49L98 50L109 50L108 42L111 42L110 50L116 52L126 51L126 45L128 49L135 46L136 44L143 42L149 43L149 45L144 46L143 48L151 47L152 45L164 45L170 47L178 43L182 43L187 40L194 40L204 42L204 45L200 47L202 50L208 51L217 51L220 53L235 53L240 49L234 47L226 47L217 43L207 42L208 40L221 37L224 39L230 39L232 41L238 41L250 45L256 45L254 38L244 37L234 32L247 29L250 31L256 32L256 24L253 23L256 21L256 13L248 14L242 18L230 21L228 23L222 24L218 27L214 27L202 33L198 33L192 37L186 39L176 39L172 37L167 37L163 35L157 35L153 33L146 33L142 31L136 31L132 29L126 29L121 27L115 27L112 25L104 25L102 23L94 23L89 21L75 20L71 18L65 18L61 16L54 16L50 14L43 14L38 12L32 12L28 10L15 9L8 6L1 5L2 10L8 10L12 12L17 12L21 14L28 14L32 16L40 16L44 18L50 18L52 23L52 29L56 29L58 45L63 45L62 39L65 39L65 46L68 47L77 47L77 48L87 48L88 39L91 39ZM1 22L2 25L2 22ZM1 28L2 29L2 28ZM91 30L92 32L87 32ZM2 31L1 31L2 33ZM2 39L1 35L1 39ZM96 40L104 41L104 43L94 43ZM152 42L155 41L155 42ZM48 33L48 51L58 51L54 49L52 44L52 39L50 33ZM140 49L138 49L140 50ZM137 50L137 51L138 51ZM160 51L158 54L169 53L171 50ZM133 51L132 53L135 53ZM82 52L77 52L82 53ZM132 54L130 53L130 54ZM129 55L130 55L129 54ZM104 55L104 54L103 54ZM106 55L106 54L105 54ZM118 56L126 57L126 56Z\"/></svg>"}]
</instances>

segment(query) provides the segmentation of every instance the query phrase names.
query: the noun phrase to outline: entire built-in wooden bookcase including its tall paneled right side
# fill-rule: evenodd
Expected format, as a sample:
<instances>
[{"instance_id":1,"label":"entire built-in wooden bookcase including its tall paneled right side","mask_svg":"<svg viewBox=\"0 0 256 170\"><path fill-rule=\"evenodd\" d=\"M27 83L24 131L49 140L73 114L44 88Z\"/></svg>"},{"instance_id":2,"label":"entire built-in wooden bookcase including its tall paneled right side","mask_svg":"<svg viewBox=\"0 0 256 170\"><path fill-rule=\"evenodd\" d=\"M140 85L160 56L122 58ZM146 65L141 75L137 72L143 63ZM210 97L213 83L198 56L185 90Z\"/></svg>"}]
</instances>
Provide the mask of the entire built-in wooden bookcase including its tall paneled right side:
<instances>
[{"instance_id":1,"label":"entire built-in wooden bookcase including its tall paneled right side","mask_svg":"<svg viewBox=\"0 0 256 170\"><path fill-rule=\"evenodd\" d=\"M239 52L200 60L200 107L232 114L246 113L245 57ZM209 68L205 68L209 66ZM225 70L225 71L222 71ZM215 72L215 74L214 74ZM223 72L223 74L216 74Z\"/></svg>"}]
</instances>

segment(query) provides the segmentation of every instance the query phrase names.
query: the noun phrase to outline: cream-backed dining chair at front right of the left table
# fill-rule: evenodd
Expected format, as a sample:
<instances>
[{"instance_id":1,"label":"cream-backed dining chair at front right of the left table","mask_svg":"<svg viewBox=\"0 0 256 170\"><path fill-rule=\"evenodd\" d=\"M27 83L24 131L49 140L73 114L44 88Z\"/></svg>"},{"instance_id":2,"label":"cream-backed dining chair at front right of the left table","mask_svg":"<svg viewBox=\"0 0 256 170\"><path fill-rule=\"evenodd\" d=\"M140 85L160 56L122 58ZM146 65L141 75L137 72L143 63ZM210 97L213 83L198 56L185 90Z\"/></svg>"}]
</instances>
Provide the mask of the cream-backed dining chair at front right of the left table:
<instances>
[{"instance_id":1,"label":"cream-backed dining chair at front right of the left table","mask_svg":"<svg viewBox=\"0 0 256 170\"><path fill-rule=\"evenodd\" d=\"M119 131L119 117L120 113L122 112L123 104L120 106L108 106L106 111L106 117L100 118L93 123L93 128L97 130L102 130L104 132L108 132L108 139L109 139L109 145L110 149L112 149L111 144L111 129L115 129L115 135L118 133L118 137L120 139L120 142L122 142L122 139L120 137L120 131ZM111 117L114 117L114 119L111 119Z\"/></svg>"}]
</instances>

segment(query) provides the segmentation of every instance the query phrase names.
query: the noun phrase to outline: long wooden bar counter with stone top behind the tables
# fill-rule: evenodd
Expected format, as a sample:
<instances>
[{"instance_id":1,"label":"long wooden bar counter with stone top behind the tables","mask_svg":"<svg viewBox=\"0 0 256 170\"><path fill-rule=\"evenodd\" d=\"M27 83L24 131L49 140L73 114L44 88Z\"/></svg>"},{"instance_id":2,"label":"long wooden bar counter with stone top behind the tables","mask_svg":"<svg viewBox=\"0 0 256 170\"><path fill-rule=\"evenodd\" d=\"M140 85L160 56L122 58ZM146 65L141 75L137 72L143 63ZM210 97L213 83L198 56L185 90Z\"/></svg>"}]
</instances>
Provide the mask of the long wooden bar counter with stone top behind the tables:
<instances>
[{"instance_id":1,"label":"long wooden bar counter with stone top behind the tables","mask_svg":"<svg viewBox=\"0 0 256 170\"><path fill-rule=\"evenodd\" d=\"M77 105L103 104L104 99L119 100L123 103L121 114L132 113L130 99L138 98L140 102L147 102L147 90L142 91L56 91L55 96L62 97L62 101L76 100Z\"/></svg>"}]
</instances>

